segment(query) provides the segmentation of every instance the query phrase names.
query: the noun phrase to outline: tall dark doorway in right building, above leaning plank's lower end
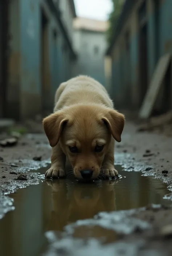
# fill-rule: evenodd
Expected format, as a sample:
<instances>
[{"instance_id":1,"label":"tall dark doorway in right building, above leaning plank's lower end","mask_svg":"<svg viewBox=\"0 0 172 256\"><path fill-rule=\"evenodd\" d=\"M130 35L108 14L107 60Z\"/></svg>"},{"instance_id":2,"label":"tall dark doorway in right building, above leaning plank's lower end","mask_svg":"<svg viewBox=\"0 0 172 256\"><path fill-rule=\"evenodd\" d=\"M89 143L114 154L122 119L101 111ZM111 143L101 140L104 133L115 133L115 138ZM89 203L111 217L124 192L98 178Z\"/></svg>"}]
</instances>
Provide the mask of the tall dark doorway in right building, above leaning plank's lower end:
<instances>
[{"instance_id":1,"label":"tall dark doorway in right building, above leaning plank's lower end","mask_svg":"<svg viewBox=\"0 0 172 256\"><path fill-rule=\"evenodd\" d=\"M140 85L140 105L148 88L148 32L147 32L147 12L146 1L139 10L139 85Z\"/></svg>"}]
</instances>

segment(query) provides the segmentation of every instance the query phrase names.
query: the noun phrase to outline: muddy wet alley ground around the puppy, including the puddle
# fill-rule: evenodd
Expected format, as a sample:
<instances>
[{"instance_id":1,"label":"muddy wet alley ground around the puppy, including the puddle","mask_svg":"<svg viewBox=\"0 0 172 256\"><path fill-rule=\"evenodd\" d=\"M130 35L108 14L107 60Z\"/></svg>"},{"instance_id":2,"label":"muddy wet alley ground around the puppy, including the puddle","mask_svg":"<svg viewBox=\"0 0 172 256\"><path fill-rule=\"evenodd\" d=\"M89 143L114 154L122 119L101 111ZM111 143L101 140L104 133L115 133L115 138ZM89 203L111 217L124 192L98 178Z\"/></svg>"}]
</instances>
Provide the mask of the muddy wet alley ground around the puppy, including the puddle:
<instances>
[{"instance_id":1,"label":"muddy wet alley ground around the puppy, including the puddle","mask_svg":"<svg viewBox=\"0 0 172 256\"><path fill-rule=\"evenodd\" d=\"M0 147L2 255L171 255L171 151L171 137L138 132L138 126L127 122L115 151L115 164L126 172L119 170L118 181L102 181L96 190L85 191L65 180L42 182L51 152L44 134L23 135L17 145ZM41 167L41 174L32 172ZM70 197L75 199L71 205ZM85 200L90 200L89 210L81 211ZM7 243L10 239L12 246Z\"/></svg>"}]
</instances>

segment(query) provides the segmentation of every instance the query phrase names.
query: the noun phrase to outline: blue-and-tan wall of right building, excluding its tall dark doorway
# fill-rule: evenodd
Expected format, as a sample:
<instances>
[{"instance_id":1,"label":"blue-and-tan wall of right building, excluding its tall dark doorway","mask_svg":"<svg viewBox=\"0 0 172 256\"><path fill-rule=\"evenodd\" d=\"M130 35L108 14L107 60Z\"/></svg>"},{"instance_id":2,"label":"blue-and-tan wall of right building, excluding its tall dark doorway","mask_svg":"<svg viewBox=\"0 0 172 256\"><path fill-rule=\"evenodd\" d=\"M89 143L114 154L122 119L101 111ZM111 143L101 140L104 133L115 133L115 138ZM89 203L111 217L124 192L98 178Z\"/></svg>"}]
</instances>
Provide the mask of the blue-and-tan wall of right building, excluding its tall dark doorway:
<instances>
[{"instance_id":1,"label":"blue-and-tan wall of right building, excluding its tall dark doorway","mask_svg":"<svg viewBox=\"0 0 172 256\"><path fill-rule=\"evenodd\" d=\"M156 1L156 0L155 0ZM158 1L158 0L157 0ZM129 13L111 53L111 96L118 107L138 109L142 103L139 80L139 24L138 10L143 0L137 2ZM148 84L160 56L172 52L172 1L159 0L159 22L153 0L146 0L147 11L147 72ZM156 34L156 28L158 33ZM126 32L130 33L129 50L126 50ZM162 92L163 93L163 92ZM161 93L161 94L162 94ZM162 95L161 95L162 98ZM171 98L172 101L172 98ZM161 101L162 103L163 101ZM157 104L161 108L160 101ZM158 106L157 106L158 107Z\"/></svg>"}]
</instances>

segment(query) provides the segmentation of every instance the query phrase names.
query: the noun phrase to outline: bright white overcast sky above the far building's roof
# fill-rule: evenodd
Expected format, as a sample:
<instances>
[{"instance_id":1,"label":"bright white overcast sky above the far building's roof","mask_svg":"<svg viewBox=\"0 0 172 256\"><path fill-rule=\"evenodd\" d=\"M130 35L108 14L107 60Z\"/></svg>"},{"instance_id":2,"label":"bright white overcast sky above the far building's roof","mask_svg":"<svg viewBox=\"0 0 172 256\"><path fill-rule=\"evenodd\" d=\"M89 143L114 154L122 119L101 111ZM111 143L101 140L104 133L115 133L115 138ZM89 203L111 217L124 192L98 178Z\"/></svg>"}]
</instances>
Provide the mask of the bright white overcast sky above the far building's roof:
<instances>
[{"instance_id":1,"label":"bright white overcast sky above the far building's roof","mask_svg":"<svg viewBox=\"0 0 172 256\"><path fill-rule=\"evenodd\" d=\"M106 20L112 9L111 0L74 0L77 16Z\"/></svg>"}]
</instances>

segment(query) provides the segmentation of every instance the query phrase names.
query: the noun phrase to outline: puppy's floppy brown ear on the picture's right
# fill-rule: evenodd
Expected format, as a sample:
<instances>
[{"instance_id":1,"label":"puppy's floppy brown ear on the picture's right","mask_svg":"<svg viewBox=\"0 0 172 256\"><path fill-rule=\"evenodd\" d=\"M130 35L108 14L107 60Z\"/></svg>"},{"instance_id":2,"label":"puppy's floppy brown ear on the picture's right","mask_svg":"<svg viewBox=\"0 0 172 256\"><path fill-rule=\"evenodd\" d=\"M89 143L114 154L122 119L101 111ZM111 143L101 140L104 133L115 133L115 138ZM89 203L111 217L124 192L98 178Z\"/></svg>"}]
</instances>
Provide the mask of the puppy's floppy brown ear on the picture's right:
<instances>
[{"instance_id":1,"label":"puppy's floppy brown ear on the picture's right","mask_svg":"<svg viewBox=\"0 0 172 256\"><path fill-rule=\"evenodd\" d=\"M125 123L124 115L114 109L110 109L105 117L103 117L102 121L107 124L114 139L120 142Z\"/></svg>"}]
</instances>

